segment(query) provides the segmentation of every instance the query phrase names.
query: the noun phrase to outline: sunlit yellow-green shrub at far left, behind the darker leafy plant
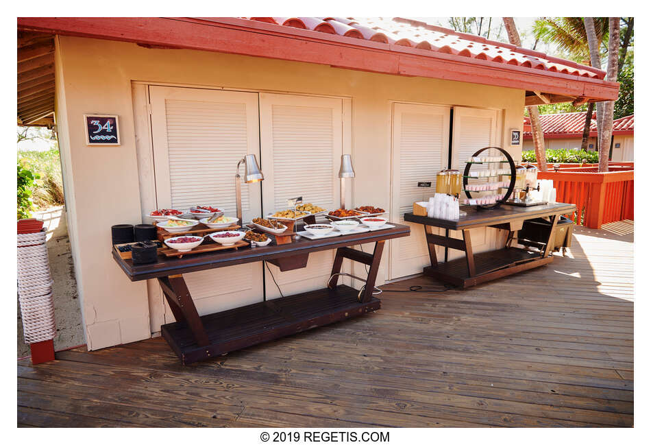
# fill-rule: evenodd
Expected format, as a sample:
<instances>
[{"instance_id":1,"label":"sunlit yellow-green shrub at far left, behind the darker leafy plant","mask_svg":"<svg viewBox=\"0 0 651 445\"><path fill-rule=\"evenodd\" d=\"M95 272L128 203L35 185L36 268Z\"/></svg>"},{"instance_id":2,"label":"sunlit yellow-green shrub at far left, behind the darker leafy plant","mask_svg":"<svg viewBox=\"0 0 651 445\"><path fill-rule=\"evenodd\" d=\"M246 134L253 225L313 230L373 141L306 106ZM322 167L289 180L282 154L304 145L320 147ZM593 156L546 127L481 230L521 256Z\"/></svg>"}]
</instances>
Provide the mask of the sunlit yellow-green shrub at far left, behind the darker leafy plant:
<instances>
[{"instance_id":1,"label":"sunlit yellow-green shrub at far left, behind the darker leafy plant","mask_svg":"<svg viewBox=\"0 0 651 445\"><path fill-rule=\"evenodd\" d=\"M64 204L63 180L59 150L47 152L19 152L19 160L38 173L40 180L32 185L32 201L38 209Z\"/></svg>"}]
</instances>

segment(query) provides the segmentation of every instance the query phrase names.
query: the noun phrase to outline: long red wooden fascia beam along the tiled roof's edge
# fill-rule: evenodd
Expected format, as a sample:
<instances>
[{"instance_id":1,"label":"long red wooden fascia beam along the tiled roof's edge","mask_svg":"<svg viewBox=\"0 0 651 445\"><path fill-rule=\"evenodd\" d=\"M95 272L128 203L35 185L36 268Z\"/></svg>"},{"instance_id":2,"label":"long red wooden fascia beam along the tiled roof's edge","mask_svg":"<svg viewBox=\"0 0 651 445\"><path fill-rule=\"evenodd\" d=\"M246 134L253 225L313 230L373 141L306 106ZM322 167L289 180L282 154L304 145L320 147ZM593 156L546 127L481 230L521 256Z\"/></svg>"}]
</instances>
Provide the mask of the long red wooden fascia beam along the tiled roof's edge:
<instances>
[{"instance_id":1,"label":"long red wooden fascia beam along the tiled roof's edge","mask_svg":"<svg viewBox=\"0 0 651 445\"><path fill-rule=\"evenodd\" d=\"M617 82L236 18L21 17L18 25L19 29L67 36L236 53L572 97L617 99L619 89Z\"/></svg>"}]
</instances>

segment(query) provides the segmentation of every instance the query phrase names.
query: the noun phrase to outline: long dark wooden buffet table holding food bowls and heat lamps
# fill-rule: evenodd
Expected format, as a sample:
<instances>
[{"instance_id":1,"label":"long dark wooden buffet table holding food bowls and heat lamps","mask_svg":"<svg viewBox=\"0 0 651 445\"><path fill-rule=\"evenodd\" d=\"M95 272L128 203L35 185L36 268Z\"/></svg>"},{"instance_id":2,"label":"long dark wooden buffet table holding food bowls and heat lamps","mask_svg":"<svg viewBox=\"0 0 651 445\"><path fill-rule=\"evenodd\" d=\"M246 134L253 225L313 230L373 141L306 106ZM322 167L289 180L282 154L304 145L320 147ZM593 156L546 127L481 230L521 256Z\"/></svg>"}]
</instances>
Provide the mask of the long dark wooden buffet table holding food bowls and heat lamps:
<instances>
[{"instance_id":1,"label":"long dark wooden buffet table holding food bowls and heat lamps","mask_svg":"<svg viewBox=\"0 0 651 445\"><path fill-rule=\"evenodd\" d=\"M384 241L408 237L410 230L408 226L392 225L395 227L340 237L314 240L301 237L282 245L206 252L183 258L158 256L156 263L144 265L134 265L114 249L112 255L130 280L158 279L177 320L161 326L161 333L186 364L380 309L380 300L373 297L373 286ZM375 243L373 253L351 248L365 243ZM336 249L336 256L328 287L269 301L262 301L264 298L260 296L258 303L203 317L199 317L183 279L183 274L189 272L254 261L269 261L282 271L298 269L305 267L311 252L333 249ZM337 285L339 276L334 274L341 272L343 258L369 266L359 298L358 291L352 287Z\"/></svg>"}]
</instances>

